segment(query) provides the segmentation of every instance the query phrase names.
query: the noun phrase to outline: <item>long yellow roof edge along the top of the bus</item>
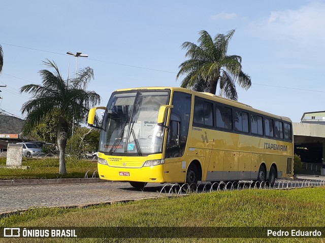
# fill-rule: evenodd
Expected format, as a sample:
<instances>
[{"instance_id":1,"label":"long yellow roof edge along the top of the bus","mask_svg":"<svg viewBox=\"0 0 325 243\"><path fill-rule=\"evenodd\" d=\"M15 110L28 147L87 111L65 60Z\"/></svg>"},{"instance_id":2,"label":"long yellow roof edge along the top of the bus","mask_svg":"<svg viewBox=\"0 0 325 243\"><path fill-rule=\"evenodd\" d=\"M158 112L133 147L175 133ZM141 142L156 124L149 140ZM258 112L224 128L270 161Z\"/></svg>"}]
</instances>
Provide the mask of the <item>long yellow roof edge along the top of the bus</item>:
<instances>
[{"instance_id":1,"label":"long yellow roof edge along the top of the bus","mask_svg":"<svg viewBox=\"0 0 325 243\"><path fill-rule=\"evenodd\" d=\"M203 97L203 98L214 100L214 101L217 101L217 102L220 102L220 103L225 103L226 105L229 105L229 106L238 107L238 108L241 108L241 109L244 109L244 110L259 113L259 114L262 114L262 115L265 115L265 116L277 118L277 119L284 120L284 121L287 121L287 122L291 123L291 120L288 117L277 116L277 115L274 115L274 114L271 114L271 113L267 113L267 112L264 112L264 111L261 111L261 110L257 110L257 109L252 108L249 105L246 105L245 103L241 103L241 102L238 102L238 101L235 101L235 100L232 100L232 99L223 98L223 97L215 95L215 94L211 94L211 93L207 93L207 92L197 92L197 91L193 91L193 90L185 89L185 88L181 88L181 87L158 87L158 86L157 87L138 87L138 88L117 89L114 92L131 91L131 90L157 90L157 89L161 89L161 90L168 89L168 90L173 90L173 91L181 91L181 92L186 92L186 93L192 93L194 95L197 95L197 96L200 96L200 97Z\"/></svg>"}]
</instances>

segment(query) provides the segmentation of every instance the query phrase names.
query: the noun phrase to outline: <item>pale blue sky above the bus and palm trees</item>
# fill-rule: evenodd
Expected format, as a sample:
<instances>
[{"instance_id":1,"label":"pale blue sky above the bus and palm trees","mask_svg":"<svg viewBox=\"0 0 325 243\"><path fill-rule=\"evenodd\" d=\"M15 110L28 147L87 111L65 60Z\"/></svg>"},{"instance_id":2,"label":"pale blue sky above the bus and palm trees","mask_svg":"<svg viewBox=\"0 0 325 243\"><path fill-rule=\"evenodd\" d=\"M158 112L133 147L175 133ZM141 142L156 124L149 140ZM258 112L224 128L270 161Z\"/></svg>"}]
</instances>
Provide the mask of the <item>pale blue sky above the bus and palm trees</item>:
<instances>
[{"instance_id":1,"label":"pale blue sky above the bus and palm trees","mask_svg":"<svg viewBox=\"0 0 325 243\"><path fill-rule=\"evenodd\" d=\"M235 29L228 54L242 57L251 77L238 101L300 122L304 112L324 111L325 2L302 0L104 1L5 0L1 3L0 111L19 118L30 99L19 90L41 84L39 71L53 60L63 77L89 66L88 85L106 106L121 88L179 87L183 42L197 43ZM218 91L217 91L218 93Z\"/></svg>"}]
</instances>

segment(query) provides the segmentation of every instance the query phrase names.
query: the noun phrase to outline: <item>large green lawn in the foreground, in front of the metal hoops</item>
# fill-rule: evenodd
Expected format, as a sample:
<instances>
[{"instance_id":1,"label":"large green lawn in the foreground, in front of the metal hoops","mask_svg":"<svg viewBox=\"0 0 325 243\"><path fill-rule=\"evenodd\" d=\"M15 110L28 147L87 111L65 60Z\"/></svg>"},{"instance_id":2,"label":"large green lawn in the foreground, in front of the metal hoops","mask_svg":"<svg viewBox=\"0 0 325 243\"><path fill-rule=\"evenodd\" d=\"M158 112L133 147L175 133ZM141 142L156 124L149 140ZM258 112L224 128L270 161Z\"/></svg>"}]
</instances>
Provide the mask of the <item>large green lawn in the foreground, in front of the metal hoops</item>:
<instances>
[{"instance_id":1,"label":"large green lawn in the foreground, in front of the metal hoops","mask_svg":"<svg viewBox=\"0 0 325 243\"><path fill-rule=\"evenodd\" d=\"M139 192L141 193L141 192ZM31 209L3 217L0 227L265 226L325 227L325 188L243 190L149 199L86 209ZM25 241L24 241L25 240ZM30 240L30 239L29 239ZM42 239L44 240L44 239ZM33 241L43 242L41 239ZM47 239L70 242L70 239ZM323 238L74 239L73 242L325 242ZM5 239L0 242L11 242ZM17 241L18 242L18 241ZM20 239L19 242L28 242Z\"/></svg>"}]
</instances>

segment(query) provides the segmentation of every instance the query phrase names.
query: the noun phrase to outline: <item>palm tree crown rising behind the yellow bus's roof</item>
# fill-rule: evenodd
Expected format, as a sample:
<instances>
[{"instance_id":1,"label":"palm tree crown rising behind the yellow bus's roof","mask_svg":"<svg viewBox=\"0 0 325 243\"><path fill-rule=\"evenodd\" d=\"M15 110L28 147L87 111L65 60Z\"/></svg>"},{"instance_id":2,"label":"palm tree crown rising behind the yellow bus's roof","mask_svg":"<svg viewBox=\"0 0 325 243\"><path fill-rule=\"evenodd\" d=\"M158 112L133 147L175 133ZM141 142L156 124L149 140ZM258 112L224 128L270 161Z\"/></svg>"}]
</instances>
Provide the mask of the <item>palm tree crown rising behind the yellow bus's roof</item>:
<instances>
[{"instance_id":1,"label":"palm tree crown rising behind the yellow bus's roof","mask_svg":"<svg viewBox=\"0 0 325 243\"><path fill-rule=\"evenodd\" d=\"M242 58L237 55L227 55L228 44L235 30L226 34L218 33L214 39L206 30L200 31L199 45L184 42L182 49L187 50L185 57L189 59L179 65L176 79L186 75L181 87L216 93L219 84L219 95L237 100L235 83L248 89L251 86L250 77L242 71Z\"/></svg>"}]
</instances>

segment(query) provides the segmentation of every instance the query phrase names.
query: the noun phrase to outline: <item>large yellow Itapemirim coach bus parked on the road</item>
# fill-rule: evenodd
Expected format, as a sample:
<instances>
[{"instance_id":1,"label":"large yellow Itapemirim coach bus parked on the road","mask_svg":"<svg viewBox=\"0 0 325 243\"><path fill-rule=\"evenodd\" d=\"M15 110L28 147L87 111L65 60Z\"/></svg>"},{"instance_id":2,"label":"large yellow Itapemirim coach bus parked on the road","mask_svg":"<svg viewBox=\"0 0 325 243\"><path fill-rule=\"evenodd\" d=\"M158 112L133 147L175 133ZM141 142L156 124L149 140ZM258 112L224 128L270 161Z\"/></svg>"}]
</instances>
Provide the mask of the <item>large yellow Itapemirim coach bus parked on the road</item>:
<instances>
[{"instance_id":1,"label":"large yellow Itapemirim coach bus parked on the road","mask_svg":"<svg viewBox=\"0 0 325 243\"><path fill-rule=\"evenodd\" d=\"M105 109L98 172L103 180L147 183L269 181L293 176L286 117L210 93L175 87L120 89Z\"/></svg>"}]
</instances>

